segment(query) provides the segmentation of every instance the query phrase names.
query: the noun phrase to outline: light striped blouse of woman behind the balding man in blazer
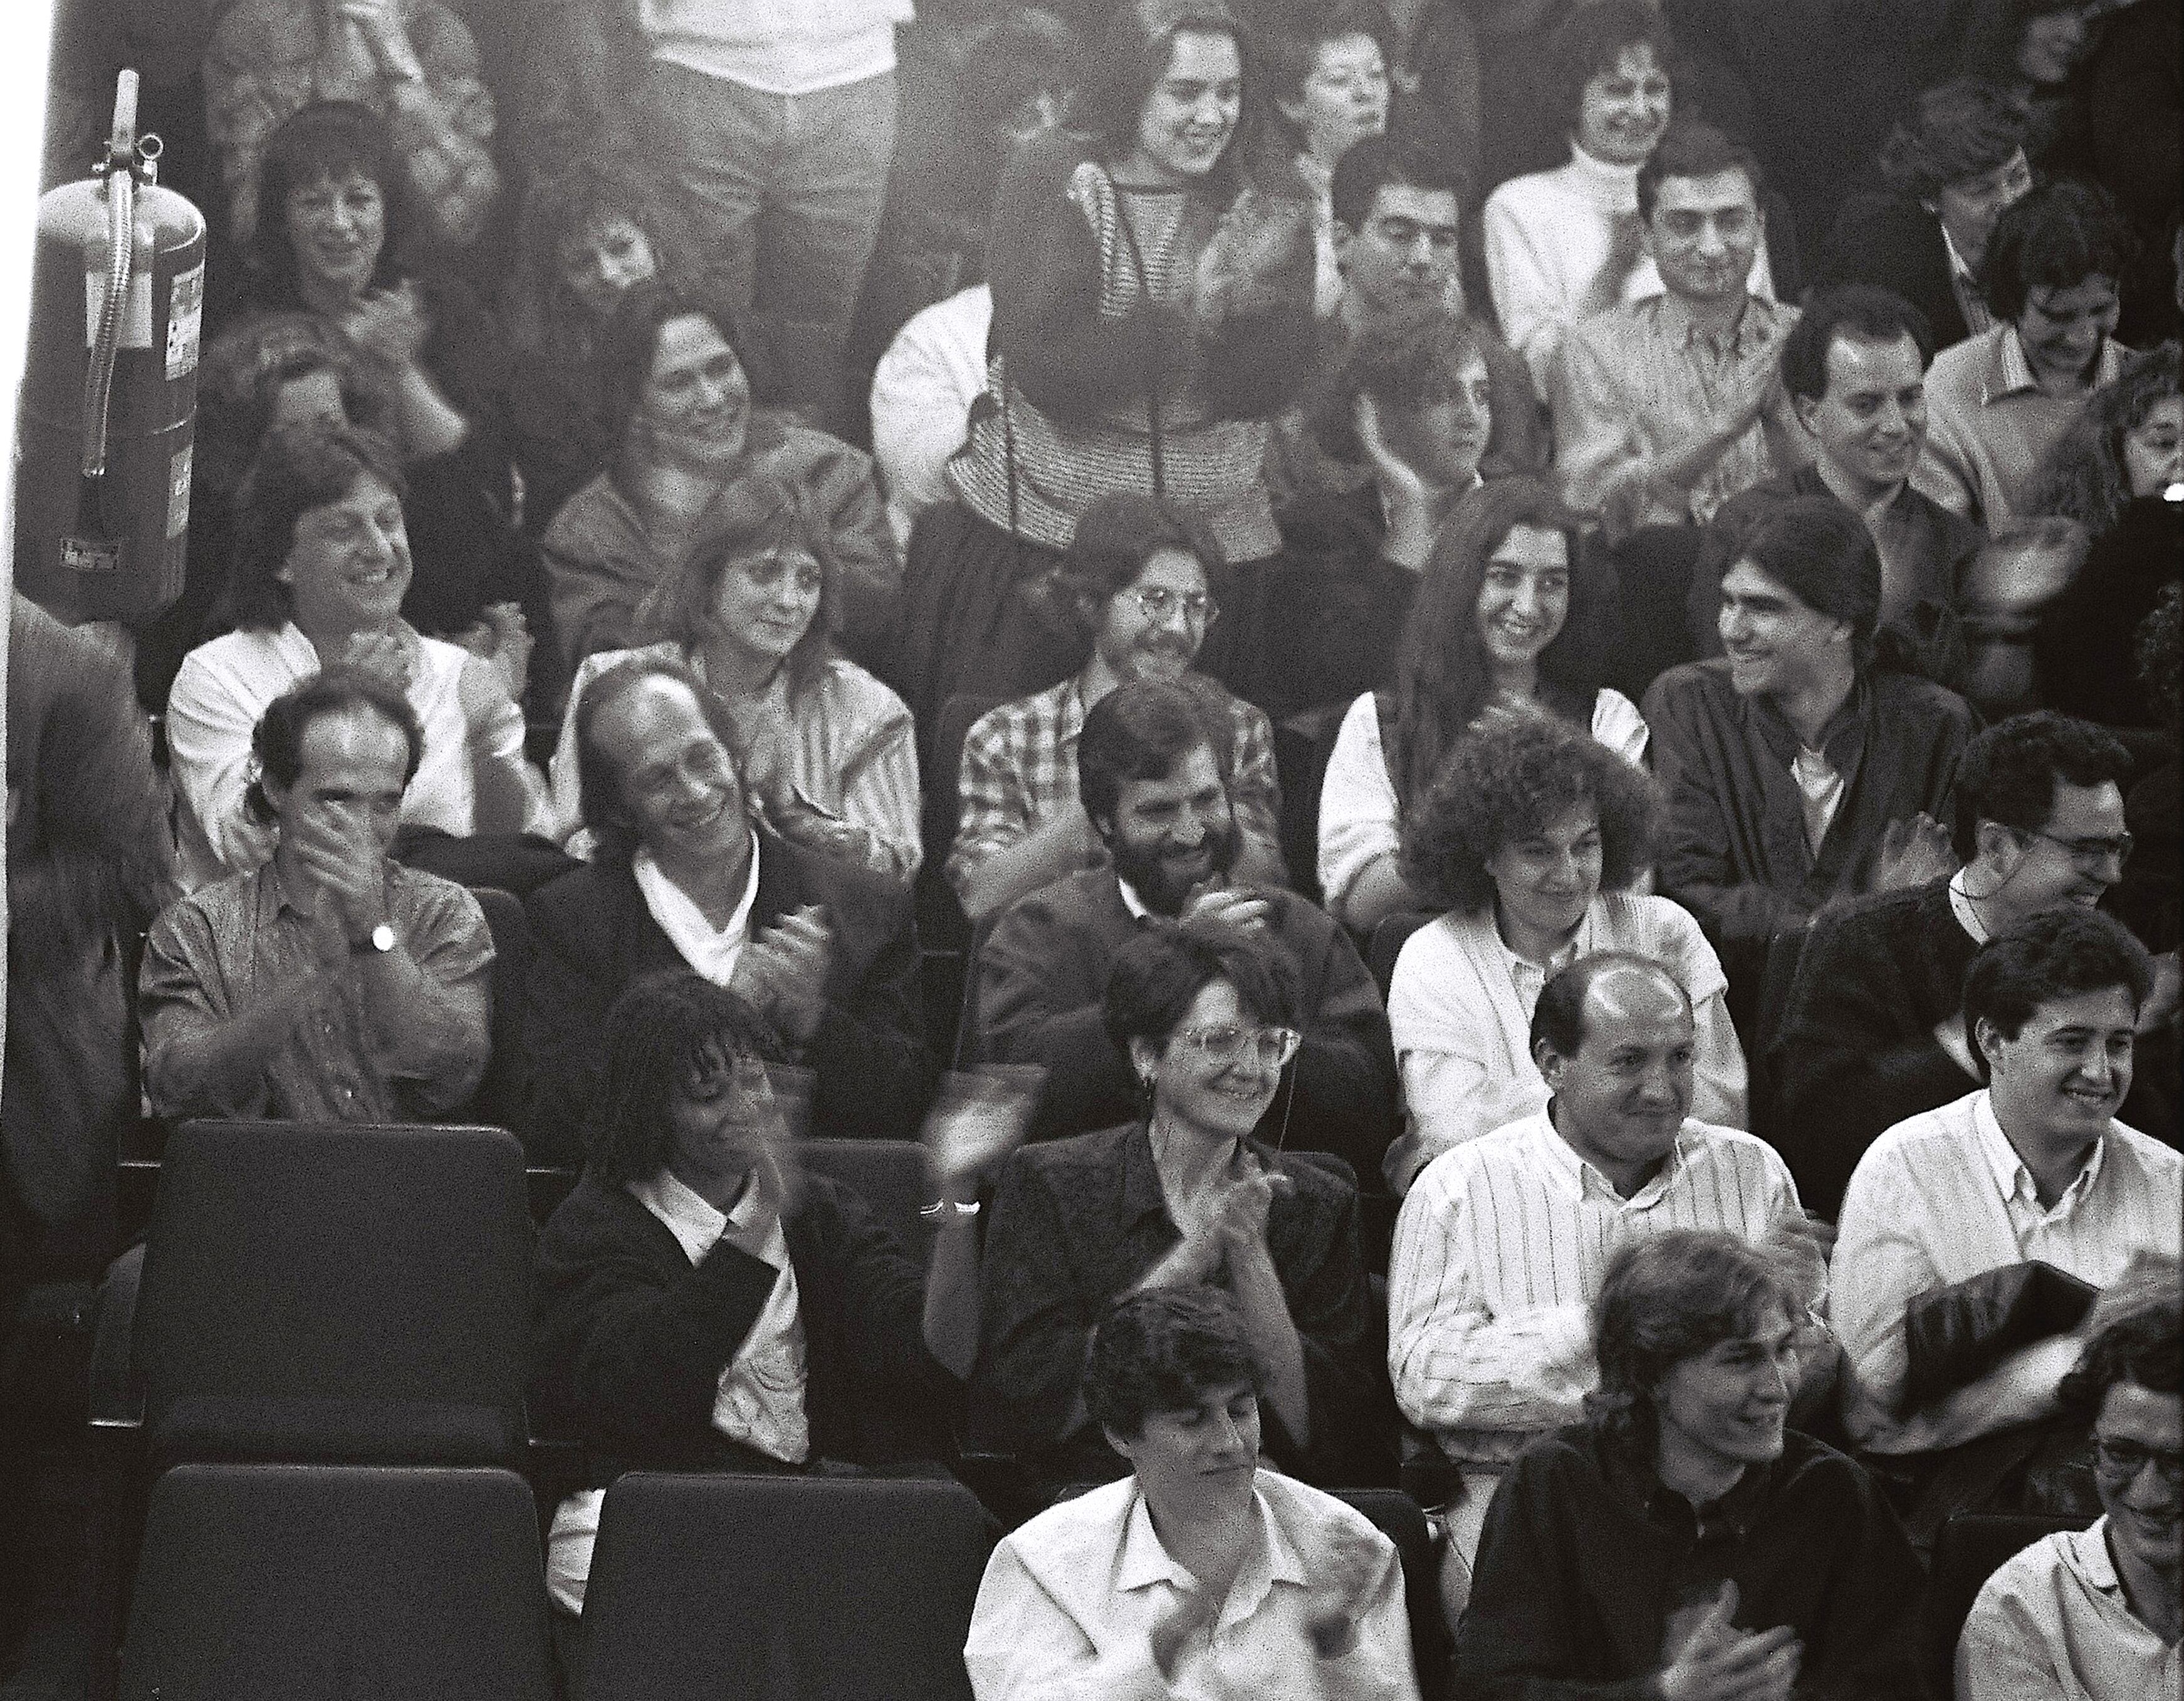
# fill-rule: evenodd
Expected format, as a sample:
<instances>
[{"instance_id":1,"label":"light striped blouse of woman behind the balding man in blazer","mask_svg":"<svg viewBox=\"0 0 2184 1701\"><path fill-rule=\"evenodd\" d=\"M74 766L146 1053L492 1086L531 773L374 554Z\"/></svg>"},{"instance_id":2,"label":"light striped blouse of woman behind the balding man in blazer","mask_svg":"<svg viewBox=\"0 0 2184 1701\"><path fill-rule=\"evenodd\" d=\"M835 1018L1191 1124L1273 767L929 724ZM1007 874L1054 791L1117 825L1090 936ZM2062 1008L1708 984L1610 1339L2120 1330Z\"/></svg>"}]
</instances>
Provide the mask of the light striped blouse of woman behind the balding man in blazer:
<instances>
[{"instance_id":1,"label":"light striped blouse of woman behind the balding man in blazer","mask_svg":"<svg viewBox=\"0 0 2184 1701\"><path fill-rule=\"evenodd\" d=\"M553 834L572 856L587 858L594 849L577 795L577 699L607 668L636 657L686 662L699 679L705 677L703 657L673 640L598 651L577 666L568 712L561 716L561 740L546 769ZM802 804L832 821L863 828L874 847L869 867L876 871L904 882L917 873L917 738L900 697L856 662L830 655L806 690L791 697L786 677L778 675L767 699L747 714L786 740L788 782Z\"/></svg>"}]
</instances>

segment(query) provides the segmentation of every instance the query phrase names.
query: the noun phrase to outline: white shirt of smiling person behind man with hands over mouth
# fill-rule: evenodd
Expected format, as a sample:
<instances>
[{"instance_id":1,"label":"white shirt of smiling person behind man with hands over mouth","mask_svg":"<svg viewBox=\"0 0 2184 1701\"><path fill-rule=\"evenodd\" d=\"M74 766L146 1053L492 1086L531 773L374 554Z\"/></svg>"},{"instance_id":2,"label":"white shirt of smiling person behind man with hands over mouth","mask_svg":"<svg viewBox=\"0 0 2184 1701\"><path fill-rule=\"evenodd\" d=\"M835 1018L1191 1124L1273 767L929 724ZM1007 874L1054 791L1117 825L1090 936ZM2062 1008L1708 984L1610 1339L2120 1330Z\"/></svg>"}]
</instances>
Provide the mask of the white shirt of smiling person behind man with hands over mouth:
<instances>
[{"instance_id":1,"label":"white shirt of smiling person behind man with hands over mouth","mask_svg":"<svg viewBox=\"0 0 2184 1701\"><path fill-rule=\"evenodd\" d=\"M417 673L406 697L424 723L424 760L402 793L402 825L439 828L459 838L476 832L476 784L470 718L461 679L470 651L437 638L417 640ZM199 644L181 662L166 701L166 745L181 812L183 884L192 891L227 873L247 873L273 854L273 830L251 821L242 793L251 777L251 734L275 697L319 673L319 651L290 622L280 631L232 631ZM485 753L522 762L524 716L502 703L480 731ZM544 797L533 799L526 830L546 823Z\"/></svg>"}]
</instances>

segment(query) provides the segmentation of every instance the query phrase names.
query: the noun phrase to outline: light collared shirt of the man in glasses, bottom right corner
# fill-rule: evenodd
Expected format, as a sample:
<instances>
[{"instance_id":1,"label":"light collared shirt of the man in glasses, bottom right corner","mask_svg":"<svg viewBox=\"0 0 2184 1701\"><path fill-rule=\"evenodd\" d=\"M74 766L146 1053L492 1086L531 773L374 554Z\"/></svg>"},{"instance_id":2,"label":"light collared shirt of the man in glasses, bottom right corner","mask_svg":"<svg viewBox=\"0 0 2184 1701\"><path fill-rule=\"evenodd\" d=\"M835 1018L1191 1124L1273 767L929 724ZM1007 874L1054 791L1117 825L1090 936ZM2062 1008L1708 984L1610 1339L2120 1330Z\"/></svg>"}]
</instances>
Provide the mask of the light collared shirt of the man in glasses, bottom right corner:
<instances>
[{"instance_id":1,"label":"light collared shirt of the man in glasses, bottom right corner","mask_svg":"<svg viewBox=\"0 0 2184 1701\"><path fill-rule=\"evenodd\" d=\"M2184 1649L2132 1611L2108 1520L2033 1542L1987 1579L1957 1642L1957 1701L2184 1694Z\"/></svg>"}]
</instances>

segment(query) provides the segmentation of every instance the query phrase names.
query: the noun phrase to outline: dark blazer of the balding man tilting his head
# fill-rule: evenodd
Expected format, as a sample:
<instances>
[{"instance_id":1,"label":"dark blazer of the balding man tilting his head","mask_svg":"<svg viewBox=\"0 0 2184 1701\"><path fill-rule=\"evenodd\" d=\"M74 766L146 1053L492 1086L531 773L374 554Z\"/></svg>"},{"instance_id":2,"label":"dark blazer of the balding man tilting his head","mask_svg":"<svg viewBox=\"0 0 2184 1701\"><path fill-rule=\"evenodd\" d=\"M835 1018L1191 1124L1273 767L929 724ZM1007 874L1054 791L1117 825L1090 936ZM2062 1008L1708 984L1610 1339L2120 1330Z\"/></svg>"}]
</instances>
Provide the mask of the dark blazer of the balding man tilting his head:
<instances>
[{"instance_id":1,"label":"dark blazer of the balding man tilting his head","mask_svg":"<svg viewBox=\"0 0 2184 1701\"><path fill-rule=\"evenodd\" d=\"M926 1111L930 1068L917 983L917 919L906 891L758 830L751 930L804 904L823 904L834 930L826 1015L797 1061L817 1074L812 1129L850 1140L911 1140ZM627 863L590 863L531 893L531 976L524 1050L533 1157L583 1151L607 1009L642 974L684 970L644 908Z\"/></svg>"}]
</instances>

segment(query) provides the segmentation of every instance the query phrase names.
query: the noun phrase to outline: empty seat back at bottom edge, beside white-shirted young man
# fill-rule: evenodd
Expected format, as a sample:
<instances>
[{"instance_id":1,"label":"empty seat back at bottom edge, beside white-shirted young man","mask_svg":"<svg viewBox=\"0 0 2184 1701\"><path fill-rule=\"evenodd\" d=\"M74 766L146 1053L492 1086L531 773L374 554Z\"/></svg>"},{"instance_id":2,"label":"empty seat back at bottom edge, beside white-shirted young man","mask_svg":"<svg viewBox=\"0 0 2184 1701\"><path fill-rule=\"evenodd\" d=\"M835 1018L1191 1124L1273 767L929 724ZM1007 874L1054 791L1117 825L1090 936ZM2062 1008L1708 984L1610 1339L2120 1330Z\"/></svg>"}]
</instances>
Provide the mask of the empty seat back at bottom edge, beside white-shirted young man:
<instances>
[{"instance_id":1,"label":"empty seat back at bottom edge, beside white-shirted young man","mask_svg":"<svg viewBox=\"0 0 2184 1701\"><path fill-rule=\"evenodd\" d=\"M992 1544L950 1480L629 1472L592 1555L583 1701L970 1701Z\"/></svg>"}]
</instances>

